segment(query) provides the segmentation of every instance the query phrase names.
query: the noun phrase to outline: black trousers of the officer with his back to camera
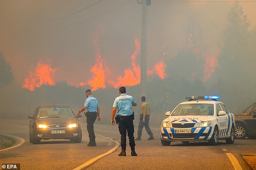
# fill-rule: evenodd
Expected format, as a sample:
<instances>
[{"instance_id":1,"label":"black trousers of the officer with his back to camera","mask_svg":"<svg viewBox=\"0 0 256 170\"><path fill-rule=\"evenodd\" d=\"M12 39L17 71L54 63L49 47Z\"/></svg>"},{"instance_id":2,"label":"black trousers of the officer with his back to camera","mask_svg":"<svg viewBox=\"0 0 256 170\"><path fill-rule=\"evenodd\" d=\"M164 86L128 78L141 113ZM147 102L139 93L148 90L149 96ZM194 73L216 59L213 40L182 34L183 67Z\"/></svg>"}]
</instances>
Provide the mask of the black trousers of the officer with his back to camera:
<instances>
[{"instance_id":1,"label":"black trousers of the officer with his back to camera","mask_svg":"<svg viewBox=\"0 0 256 170\"><path fill-rule=\"evenodd\" d=\"M133 125L133 116L122 116L122 120L118 123L118 129L121 134L121 147L122 150L126 150L126 131L129 137L129 145L131 150L135 148L134 141L134 125Z\"/></svg>"}]
</instances>

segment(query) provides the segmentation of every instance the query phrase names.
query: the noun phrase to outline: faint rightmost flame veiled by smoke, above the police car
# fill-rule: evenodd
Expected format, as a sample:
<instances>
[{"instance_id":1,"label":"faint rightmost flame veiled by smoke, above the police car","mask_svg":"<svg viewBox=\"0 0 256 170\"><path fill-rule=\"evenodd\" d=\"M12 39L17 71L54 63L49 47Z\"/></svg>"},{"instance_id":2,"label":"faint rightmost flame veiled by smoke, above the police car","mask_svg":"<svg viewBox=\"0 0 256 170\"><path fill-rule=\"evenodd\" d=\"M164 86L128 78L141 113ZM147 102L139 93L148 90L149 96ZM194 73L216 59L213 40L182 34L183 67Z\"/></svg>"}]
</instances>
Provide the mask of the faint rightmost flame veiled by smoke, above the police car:
<instances>
[{"instance_id":1,"label":"faint rightmost flame veiled by smoke, above the police car","mask_svg":"<svg viewBox=\"0 0 256 170\"><path fill-rule=\"evenodd\" d=\"M205 64L204 64L204 82L208 81L208 79L212 76L215 72L215 68L219 67L217 57L205 57Z\"/></svg>"}]
</instances>

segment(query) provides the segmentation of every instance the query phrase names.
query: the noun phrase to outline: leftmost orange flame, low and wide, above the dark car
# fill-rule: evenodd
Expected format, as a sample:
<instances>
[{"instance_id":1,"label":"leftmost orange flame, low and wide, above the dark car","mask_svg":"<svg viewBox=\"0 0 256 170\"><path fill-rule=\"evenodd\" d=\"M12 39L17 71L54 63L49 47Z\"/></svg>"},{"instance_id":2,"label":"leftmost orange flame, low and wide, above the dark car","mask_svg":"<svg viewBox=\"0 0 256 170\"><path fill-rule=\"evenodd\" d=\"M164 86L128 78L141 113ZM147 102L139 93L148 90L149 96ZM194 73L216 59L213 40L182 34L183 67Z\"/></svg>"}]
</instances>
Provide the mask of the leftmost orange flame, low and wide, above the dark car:
<instances>
[{"instance_id":1,"label":"leftmost orange flame, low and wide, above the dark car","mask_svg":"<svg viewBox=\"0 0 256 170\"><path fill-rule=\"evenodd\" d=\"M26 78L23 88L34 91L36 87L40 87L42 84L55 85L53 81L56 68L51 68L50 64L42 64L38 62L35 72L29 72L29 78Z\"/></svg>"}]
</instances>

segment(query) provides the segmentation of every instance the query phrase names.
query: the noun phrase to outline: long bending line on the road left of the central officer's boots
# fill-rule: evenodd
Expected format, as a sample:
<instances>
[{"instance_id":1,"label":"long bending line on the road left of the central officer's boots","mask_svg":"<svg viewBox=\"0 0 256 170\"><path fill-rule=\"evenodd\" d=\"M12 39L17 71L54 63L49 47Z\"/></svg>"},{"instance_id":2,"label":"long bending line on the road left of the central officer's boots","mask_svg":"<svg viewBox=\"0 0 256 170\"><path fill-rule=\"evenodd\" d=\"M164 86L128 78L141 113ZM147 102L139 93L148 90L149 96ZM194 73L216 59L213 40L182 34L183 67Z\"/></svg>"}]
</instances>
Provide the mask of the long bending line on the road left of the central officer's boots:
<instances>
[{"instance_id":1,"label":"long bending line on the road left of the central officer's boots","mask_svg":"<svg viewBox=\"0 0 256 170\"><path fill-rule=\"evenodd\" d=\"M95 134L97 135L97 134ZM101 136L101 135L98 135L98 136ZM111 154L112 152L114 152L119 146L120 146L120 143L118 141L114 141L113 139L109 138L109 137L105 137L105 136L101 136L101 137L104 137L106 139L109 139L113 142L115 142L115 147L113 147L111 150L109 150L108 152L106 152L105 154L102 154L102 155L99 155L95 158L92 158L91 160L85 162L84 164L78 166L77 168L73 169L73 170L81 170L83 168L86 168L87 166L89 166L90 164L96 162L97 160L99 160L100 158L104 157L104 156L107 156L108 154Z\"/></svg>"}]
</instances>

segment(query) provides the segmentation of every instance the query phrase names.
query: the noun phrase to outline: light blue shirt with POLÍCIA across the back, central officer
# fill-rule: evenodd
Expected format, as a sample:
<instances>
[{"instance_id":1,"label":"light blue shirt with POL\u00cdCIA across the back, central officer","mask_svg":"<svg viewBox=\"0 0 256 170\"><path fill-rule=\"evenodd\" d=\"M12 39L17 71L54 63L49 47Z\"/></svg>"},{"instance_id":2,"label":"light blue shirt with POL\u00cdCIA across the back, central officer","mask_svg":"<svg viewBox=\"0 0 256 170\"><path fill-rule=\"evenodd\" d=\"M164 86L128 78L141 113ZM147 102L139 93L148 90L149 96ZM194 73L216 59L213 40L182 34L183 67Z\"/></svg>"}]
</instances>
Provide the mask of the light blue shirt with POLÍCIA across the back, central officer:
<instances>
[{"instance_id":1,"label":"light blue shirt with POL\u00cdCIA across the back, central officer","mask_svg":"<svg viewBox=\"0 0 256 170\"><path fill-rule=\"evenodd\" d=\"M136 101L132 96L124 93L115 98L113 107L118 109L118 115L130 116L132 115L132 104L135 103Z\"/></svg>"}]
</instances>

